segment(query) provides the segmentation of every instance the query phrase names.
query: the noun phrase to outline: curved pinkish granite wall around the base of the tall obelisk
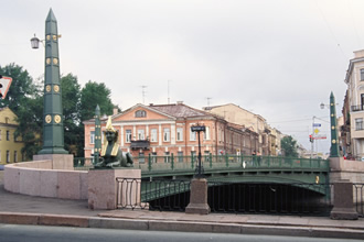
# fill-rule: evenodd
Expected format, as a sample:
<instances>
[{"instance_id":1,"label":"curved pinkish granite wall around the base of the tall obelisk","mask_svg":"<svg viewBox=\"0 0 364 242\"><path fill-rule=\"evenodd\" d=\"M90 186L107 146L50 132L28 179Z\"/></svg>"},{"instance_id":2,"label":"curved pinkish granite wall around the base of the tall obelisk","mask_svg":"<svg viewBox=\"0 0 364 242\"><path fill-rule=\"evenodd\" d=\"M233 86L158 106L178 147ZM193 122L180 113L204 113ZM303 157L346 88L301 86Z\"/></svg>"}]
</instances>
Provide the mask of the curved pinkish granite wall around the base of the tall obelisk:
<instances>
[{"instance_id":1,"label":"curved pinkish granite wall around the base of the tall obelisk","mask_svg":"<svg viewBox=\"0 0 364 242\"><path fill-rule=\"evenodd\" d=\"M9 164L4 167L4 189L30 196L87 199L87 174L62 169L52 160ZM54 169L55 168L55 169Z\"/></svg>"}]
</instances>

